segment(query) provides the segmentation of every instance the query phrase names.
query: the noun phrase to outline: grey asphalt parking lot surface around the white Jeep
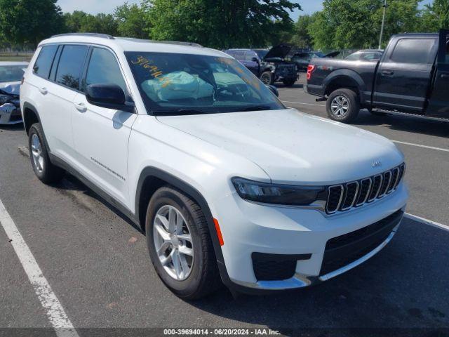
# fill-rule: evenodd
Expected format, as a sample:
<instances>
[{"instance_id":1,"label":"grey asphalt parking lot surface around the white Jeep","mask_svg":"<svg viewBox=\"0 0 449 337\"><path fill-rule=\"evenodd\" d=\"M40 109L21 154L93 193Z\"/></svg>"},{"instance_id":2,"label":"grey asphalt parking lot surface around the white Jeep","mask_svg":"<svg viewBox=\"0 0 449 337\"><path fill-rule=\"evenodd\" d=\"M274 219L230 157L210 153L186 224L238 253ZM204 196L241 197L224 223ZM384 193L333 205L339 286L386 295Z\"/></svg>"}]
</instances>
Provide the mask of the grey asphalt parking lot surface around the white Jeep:
<instances>
[{"instance_id":1,"label":"grey asphalt parking lot surface around the white Jeep","mask_svg":"<svg viewBox=\"0 0 449 337\"><path fill-rule=\"evenodd\" d=\"M281 100L326 117L325 103L303 92L301 76L294 88L279 86ZM0 126L0 200L79 336L83 328L156 327L449 331L449 124L362 111L355 126L396 141L408 165L407 212L427 220L405 218L367 263L300 291L234 300L222 289L180 300L159 281L138 228L70 176L55 186L40 183L20 150L27 145L22 126ZM50 328L2 228L0 263L0 335L11 327Z\"/></svg>"}]
</instances>

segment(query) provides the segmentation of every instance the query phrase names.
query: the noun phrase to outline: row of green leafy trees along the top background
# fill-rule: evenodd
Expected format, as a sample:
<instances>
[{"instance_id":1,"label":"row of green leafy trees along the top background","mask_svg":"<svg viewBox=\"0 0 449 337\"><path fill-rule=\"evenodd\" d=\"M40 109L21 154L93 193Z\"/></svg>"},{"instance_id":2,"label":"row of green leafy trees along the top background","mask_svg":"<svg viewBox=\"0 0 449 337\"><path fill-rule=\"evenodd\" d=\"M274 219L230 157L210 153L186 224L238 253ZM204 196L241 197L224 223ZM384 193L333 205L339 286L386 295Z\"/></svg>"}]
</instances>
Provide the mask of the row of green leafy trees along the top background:
<instances>
[{"instance_id":1,"label":"row of green leafy trees along the top background","mask_svg":"<svg viewBox=\"0 0 449 337\"><path fill-rule=\"evenodd\" d=\"M401 32L449 28L449 0L389 0L385 40ZM96 32L191 41L212 48L274 46L342 49L377 46L384 0L324 0L323 10L293 22L291 0L142 0L112 14L62 13L57 0L0 0L1 46L35 48L54 34Z\"/></svg>"}]
</instances>

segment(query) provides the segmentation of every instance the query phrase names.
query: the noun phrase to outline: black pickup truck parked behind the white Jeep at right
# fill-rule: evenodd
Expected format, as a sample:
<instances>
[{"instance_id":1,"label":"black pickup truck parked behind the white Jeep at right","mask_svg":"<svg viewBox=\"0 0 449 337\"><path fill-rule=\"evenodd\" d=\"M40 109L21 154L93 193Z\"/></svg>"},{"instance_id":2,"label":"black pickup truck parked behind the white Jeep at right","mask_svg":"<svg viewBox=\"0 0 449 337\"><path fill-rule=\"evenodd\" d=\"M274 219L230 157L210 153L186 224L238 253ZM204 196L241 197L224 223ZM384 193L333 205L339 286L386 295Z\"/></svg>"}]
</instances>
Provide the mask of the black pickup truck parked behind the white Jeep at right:
<instances>
[{"instance_id":1,"label":"black pickup truck parked behind the white Jeep at right","mask_svg":"<svg viewBox=\"0 0 449 337\"><path fill-rule=\"evenodd\" d=\"M314 58L306 91L343 123L361 109L449 121L449 30L395 35L379 61Z\"/></svg>"}]
</instances>

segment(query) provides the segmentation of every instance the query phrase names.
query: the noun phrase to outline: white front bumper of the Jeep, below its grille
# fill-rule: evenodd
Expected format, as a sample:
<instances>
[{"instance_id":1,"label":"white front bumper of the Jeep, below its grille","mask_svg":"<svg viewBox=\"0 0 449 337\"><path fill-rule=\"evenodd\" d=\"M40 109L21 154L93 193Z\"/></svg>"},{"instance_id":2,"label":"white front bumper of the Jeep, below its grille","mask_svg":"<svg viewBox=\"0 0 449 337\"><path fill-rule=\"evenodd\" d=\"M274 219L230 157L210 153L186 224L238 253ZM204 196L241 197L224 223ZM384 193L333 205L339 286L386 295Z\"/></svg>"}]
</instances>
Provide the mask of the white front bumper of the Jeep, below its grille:
<instances>
[{"instance_id":1,"label":"white front bumper of the Jeep, below its grille","mask_svg":"<svg viewBox=\"0 0 449 337\"><path fill-rule=\"evenodd\" d=\"M373 204L327 216L311 209L251 204L231 194L220 200L219 208L231 207L232 203L237 208L217 215L225 242L222 253L227 277L239 288L269 291L302 288L340 275L365 262L388 244L401 222L407 199L408 190L401 183L394 193ZM365 251L344 264L326 269L326 244L331 239L364 230L395 213L398 216L391 220L377 241L361 242L366 244ZM260 279L256 276L254 253L300 258L295 260L289 277Z\"/></svg>"}]
</instances>

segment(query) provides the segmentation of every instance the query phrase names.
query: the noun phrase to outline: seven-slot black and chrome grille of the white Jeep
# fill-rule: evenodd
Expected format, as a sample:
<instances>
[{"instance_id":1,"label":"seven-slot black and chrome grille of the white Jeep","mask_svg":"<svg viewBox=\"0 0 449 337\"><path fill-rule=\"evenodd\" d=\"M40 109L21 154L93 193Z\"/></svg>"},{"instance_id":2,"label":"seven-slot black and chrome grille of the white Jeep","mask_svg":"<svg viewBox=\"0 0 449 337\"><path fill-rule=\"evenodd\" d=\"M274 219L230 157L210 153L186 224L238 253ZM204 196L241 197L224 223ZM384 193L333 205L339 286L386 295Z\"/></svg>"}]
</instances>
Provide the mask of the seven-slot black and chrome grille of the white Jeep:
<instances>
[{"instance_id":1,"label":"seven-slot black and chrome grille of the white Jeep","mask_svg":"<svg viewBox=\"0 0 449 337\"><path fill-rule=\"evenodd\" d=\"M396 190L405 169L405 164L402 164L377 176L328 187L326 212L348 211L384 197Z\"/></svg>"}]
</instances>

